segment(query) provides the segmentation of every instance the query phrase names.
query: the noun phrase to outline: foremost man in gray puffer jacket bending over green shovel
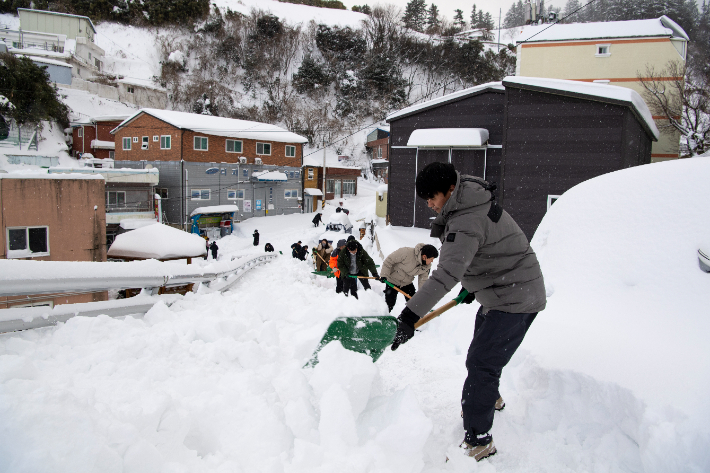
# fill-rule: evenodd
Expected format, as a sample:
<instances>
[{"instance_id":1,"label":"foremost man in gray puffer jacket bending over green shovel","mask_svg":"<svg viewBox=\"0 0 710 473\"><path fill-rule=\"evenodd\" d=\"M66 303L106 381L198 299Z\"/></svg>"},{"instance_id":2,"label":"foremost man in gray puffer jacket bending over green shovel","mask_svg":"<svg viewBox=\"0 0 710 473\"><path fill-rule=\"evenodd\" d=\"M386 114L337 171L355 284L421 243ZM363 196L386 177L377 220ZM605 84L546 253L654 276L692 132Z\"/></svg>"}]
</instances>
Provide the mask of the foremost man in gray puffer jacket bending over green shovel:
<instances>
[{"instance_id":1,"label":"foremost man in gray puffer jacket bending over green shovel","mask_svg":"<svg viewBox=\"0 0 710 473\"><path fill-rule=\"evenodd\" d=\"M439 264L399 316L396 350L414 336L414 324L461 282L481 308L468 350L461 404L466 455L481 460L496 452L489 431L496 407L505 405L501 370L537 313L545 308L545 284L535 252L512 217L494 200L493 186L431 163L417 175L417 195L439 215L431 236L442 242Z\"/></svg>"}]
</instances>

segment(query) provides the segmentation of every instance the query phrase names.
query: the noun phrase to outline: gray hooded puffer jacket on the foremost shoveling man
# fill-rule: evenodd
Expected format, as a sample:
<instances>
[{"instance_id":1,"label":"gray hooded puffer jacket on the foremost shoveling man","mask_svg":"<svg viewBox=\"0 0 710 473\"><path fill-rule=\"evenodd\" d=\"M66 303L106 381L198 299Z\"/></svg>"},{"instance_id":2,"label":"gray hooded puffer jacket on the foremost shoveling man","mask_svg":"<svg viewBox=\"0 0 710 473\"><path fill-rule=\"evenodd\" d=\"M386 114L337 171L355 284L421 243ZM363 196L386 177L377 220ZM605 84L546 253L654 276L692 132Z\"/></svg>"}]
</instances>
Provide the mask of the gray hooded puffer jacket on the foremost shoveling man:
<instances>
[{"instance_id":1,"label":"gray hooded puffer jacket on the foremost shoveling man","mask_svg":"<svg viewBox=\"0 0 710 473\"><path fill-rule=\"evenodd\" d=\"M439 264L407 307L421 317L461 281L486 312L543 310L545 283L525 234L508 212L492 208L479 178L457 174L451 198L432 223L431 236L443 243Z\"/></svg>"}]
</instances>

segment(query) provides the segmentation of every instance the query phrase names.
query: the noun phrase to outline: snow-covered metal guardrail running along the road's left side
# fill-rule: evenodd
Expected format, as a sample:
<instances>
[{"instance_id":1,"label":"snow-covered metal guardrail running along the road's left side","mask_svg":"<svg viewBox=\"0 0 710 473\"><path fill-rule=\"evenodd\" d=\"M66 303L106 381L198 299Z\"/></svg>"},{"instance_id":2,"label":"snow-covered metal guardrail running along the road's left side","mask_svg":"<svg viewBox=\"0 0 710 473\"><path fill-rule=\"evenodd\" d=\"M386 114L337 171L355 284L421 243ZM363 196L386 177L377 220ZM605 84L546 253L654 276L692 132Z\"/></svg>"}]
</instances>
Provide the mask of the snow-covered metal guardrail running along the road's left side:
<instances>
[{"instance_id":1,"label":"snow-covered metal guardrail running along the road's left side","mask_svg":"<svg viewBox=\"0 0 710 473\"><path fill-rule=\"evenodd\" d=\"M278 254L263 254L232 260L228 269L219 272L196 272L181 274L154 274L148 276L117 275L114 278L97 279L96 274L84 278L27 278L21 273L14 276L4 275L0 280L0 295L53 294L65 291L103 291L108 289L143 288L140 295L129 299L118 299L81 304L63 304L49 307L22 307L0 309L0 333L14 332L56 325L72 317L96 317L101 314L109 317L143 316L153 305L163 301L170 305L180 300L177 294L153 295L165 285L202 283L198 293L224 292L236 284L248 271L264 265L278 257ZM43 262L31 262L43 263ZM67 263L68 264L68 263ZM122 265L130 263L92 263ZM110 268L108 268L110 269ZM51 274L50 274L51 276Z\"/></svg>"}]
</instances>

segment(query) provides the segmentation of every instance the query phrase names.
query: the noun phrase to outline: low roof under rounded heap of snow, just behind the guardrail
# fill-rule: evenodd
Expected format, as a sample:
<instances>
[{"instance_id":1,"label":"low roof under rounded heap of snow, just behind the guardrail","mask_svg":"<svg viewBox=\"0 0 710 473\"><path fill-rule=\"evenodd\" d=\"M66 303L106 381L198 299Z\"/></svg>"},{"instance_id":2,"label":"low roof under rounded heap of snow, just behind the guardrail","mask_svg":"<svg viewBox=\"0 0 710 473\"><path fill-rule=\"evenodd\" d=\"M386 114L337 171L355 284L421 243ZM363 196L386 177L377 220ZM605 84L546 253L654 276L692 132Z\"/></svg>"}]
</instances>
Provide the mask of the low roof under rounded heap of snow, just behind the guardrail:
<instances>
[{"instance_id":1,"label":"low roof under rounded heap of snow, just behind the guardrail","mask_svg":"<svg viewBox=\"0 0 710 473\"><path fill-rule=\"evenodd\" d=\"M116 236L109 258L177 259L207 253L204 238L156 223Z\"/></svg>"}]
</instances>

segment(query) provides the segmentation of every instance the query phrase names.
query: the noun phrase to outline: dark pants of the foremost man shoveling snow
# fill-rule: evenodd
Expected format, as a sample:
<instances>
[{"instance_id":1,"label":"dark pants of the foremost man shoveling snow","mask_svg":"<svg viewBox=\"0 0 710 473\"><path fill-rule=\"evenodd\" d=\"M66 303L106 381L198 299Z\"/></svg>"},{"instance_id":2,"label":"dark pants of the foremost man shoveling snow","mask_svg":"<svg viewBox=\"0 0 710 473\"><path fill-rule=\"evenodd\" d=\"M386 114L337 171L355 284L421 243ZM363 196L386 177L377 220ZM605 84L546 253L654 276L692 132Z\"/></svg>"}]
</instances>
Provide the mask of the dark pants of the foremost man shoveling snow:
<instances>
[{"instance_id":1,"label":"dark pants of the foremost man shoveling snow","mask_svg":"<svg viewBox=\"0 0 710 473\"><path fill-rule=\"evenodd\" d=\"M476 328L468 349L468 377L463 385L461 406L466 441L475 441L476 434L488 432L493 426L493 413L500 393L500 375L527 333L536 313L509 314L498 310L476 314Z\"/></svg>"}]
</instances>

